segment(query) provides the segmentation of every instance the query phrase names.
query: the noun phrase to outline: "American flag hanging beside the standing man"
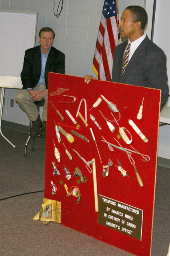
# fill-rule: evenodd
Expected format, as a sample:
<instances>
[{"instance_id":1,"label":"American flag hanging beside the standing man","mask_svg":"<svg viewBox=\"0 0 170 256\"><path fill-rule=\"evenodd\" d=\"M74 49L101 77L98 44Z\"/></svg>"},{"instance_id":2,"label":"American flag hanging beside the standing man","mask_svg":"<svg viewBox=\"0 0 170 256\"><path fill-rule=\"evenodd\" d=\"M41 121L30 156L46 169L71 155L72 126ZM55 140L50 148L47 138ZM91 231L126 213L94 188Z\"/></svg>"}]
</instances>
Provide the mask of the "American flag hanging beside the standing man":
<instances>
[{"instance_id":1,"label":"American flag hanging beside the standing man","mask_svg":"<svg viewBox=\"0 0 170 256\"><path fill-rule=\"evenodd\" d=\"M113 54L119 42L118 0L105 0L97 35L93 71L99 80L110 81L112 78Z\"/></svg>"}]
</instances>

